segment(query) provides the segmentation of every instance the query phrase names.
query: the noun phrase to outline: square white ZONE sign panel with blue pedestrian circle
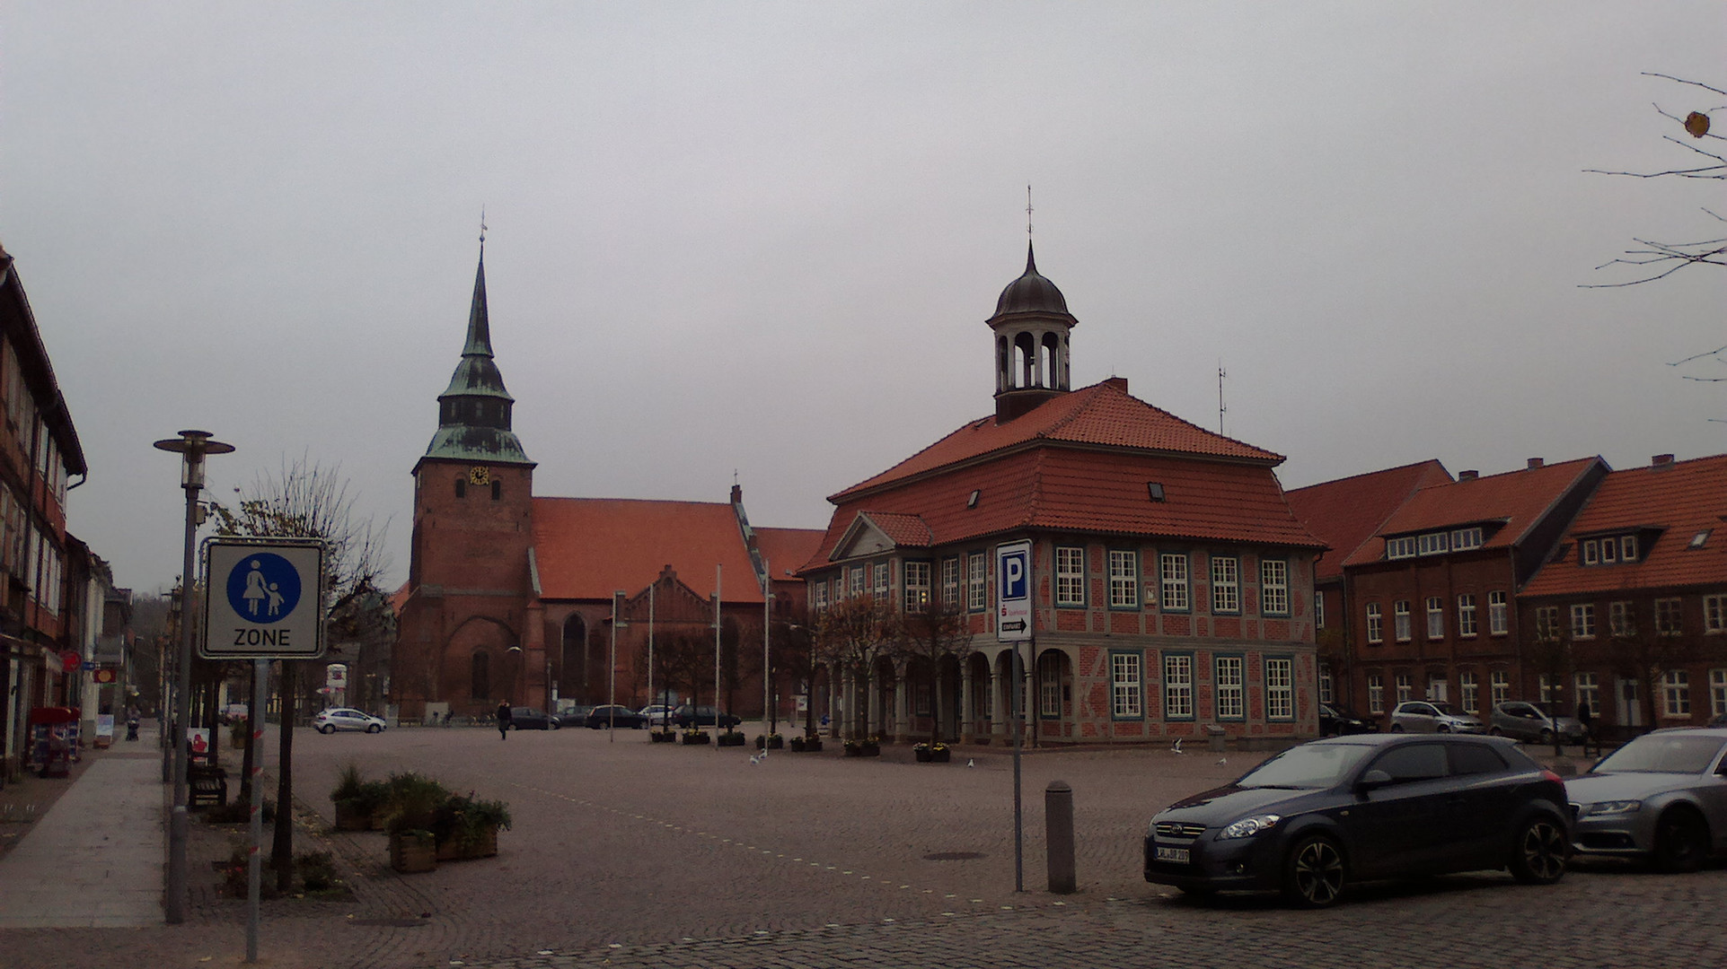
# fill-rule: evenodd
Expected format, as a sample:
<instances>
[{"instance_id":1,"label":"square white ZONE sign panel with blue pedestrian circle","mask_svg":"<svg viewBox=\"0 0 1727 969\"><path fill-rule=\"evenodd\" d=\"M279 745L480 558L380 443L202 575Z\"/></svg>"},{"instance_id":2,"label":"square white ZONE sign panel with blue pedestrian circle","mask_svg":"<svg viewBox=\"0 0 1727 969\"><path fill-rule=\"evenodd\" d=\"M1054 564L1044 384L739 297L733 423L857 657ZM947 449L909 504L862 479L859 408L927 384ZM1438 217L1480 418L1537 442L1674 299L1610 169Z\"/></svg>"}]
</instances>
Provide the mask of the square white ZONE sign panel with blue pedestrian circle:
<instances>
[{"instance_id":1,"label":"square white ZONE sign panel with blue pedestrian circle","mask_svg":"<svg viewBox=\"0 0 1727 969\"><path fill-rule=\"evenodd\" d=\"M204 659L323 655L323 543L207 541Z\"/></svg>"}]
</instances>

